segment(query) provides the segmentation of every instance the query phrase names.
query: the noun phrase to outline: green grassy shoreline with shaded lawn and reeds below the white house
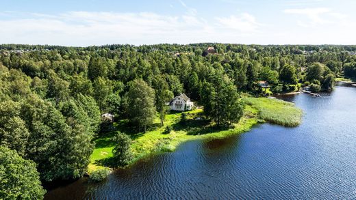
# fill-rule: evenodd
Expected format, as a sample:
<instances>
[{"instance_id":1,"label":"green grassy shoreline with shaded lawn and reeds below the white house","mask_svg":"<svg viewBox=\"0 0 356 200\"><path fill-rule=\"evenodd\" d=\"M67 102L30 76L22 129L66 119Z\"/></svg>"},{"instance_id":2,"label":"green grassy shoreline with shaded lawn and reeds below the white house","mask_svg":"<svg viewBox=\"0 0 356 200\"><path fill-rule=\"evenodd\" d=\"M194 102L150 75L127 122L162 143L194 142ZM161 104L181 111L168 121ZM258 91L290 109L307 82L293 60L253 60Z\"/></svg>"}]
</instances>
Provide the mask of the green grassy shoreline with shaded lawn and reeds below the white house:
<instances>
[{"instance_id":1,"label":"green grassy shoreline with shaded lawn and reeds below the white house","mask_svg":"<svg viewBox=\"0 0 356 200\"><path fill-rule=\"evenodd\" d=\"M133 160L131 163L149 156L155 152L172 152L181 143L196 139L223 139L233 134L241 134L251 130L253 126L263 122L279 124L281 126L298 126L301 124L303 112L290 102L268 98L244 98L246 103L244 116L240 122L233 124L233 128L226 130L218 129L205 120L196 120L203 115L202 109L186 112L188 120L181 124L181 113L170 113L166 116L164 126L160 126L157 117L153 127L146 133L132 133L126 127L126 122L116 124L118 130L129 134L133 143L131 149ZM170 134L162 134L166 126L173 126ZM111 138L114 133L105 134L95 139L96 146L90 156L88 172L105 168L103 160L112 157L114 143Z\"/></svg>"}]
</instances>

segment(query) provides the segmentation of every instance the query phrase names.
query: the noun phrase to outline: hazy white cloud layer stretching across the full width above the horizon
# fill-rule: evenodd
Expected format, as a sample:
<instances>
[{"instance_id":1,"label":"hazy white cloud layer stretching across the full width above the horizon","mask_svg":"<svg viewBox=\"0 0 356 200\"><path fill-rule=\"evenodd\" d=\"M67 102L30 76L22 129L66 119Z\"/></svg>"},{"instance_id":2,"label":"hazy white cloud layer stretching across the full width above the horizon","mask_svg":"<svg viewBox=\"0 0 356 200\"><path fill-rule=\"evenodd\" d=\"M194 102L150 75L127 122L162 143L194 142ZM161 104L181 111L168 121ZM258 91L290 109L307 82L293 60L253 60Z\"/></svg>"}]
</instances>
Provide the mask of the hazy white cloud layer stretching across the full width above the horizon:
<instances>
[{"instance_id":1,"label":"hazy white cloud layer stretching across the full width above the horizon","mask_svg":"<svg viewBox=\"0 0 356 200\"><path fill-rule=\"evenodd\" d=\"M188 12L0 12L0 44L356 44L356 23L351 16L331 9L316 10L317 16L309 11L287 10L284 18L277 16L270 21L260 21L249 13L203 18Z\"/></svg>"}]
</instances>

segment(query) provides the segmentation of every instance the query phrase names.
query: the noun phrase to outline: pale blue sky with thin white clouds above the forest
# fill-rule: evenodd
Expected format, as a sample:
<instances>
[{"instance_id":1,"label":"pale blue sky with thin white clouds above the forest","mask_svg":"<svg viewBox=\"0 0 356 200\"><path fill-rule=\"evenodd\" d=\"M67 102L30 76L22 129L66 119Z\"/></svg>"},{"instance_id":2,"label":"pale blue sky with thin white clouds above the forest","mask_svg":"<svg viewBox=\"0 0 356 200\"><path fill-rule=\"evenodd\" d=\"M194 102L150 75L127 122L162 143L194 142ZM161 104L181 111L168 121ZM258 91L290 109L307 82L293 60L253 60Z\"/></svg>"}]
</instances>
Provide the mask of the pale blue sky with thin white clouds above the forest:
<instances>
[{"instance_id":1,"label":"pale blue sky with thin white clouds above the forest","mask_svg":"<svg viewBox=\"0 0 356 200\"><path fill-rule=\"evenodd\" d=\"M0 0L0 44L356 44L353 0Z\"/></svg>"}]
</instances>

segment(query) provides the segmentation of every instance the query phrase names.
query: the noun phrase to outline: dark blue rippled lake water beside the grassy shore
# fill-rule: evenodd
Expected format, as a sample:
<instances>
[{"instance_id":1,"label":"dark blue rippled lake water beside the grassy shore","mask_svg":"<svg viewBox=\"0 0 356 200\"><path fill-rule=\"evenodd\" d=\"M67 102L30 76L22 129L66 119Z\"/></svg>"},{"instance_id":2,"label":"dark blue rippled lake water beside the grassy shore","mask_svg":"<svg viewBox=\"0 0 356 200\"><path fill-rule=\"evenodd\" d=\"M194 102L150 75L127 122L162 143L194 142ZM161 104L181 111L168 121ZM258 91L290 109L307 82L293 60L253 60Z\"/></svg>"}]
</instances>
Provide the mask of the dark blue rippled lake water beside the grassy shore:
<instances>
[{"instance_id":1,"label":"dark blue rippled lake water beside the grassy shore","mask_svg":"<svg viewBox=\"0 0 356 200\"><path fill-rule=\"evenodd\" d=\"M356 199L356 88L282 98L303 109L301 126L262 124L228 139L189 141L45 199Z\"/></svg>"}]
</instances>

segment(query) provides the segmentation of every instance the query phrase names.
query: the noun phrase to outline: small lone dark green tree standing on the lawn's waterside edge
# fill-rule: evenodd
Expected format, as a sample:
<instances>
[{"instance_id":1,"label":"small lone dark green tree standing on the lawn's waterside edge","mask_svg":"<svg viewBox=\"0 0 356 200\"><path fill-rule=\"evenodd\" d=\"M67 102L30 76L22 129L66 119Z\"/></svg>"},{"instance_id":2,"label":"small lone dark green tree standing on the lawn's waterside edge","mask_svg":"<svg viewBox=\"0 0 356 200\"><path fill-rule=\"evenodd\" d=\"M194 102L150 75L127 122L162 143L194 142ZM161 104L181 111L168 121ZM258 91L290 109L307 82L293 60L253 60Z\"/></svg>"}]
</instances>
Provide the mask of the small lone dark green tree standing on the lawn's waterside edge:
<instances>
[{"instance_id":1,"label":"small lone dark green tree standing on the lawn's waterside edge","mask_svg":"<svg viewBox=\"0 0 356 200\"><path fill-rule=\"evenodd\" d=\"M123 167L132 160L131 139L126 134L117 132L114 137L115 147L112 149L114 165Z\"/></svg>"}]
</instances>

